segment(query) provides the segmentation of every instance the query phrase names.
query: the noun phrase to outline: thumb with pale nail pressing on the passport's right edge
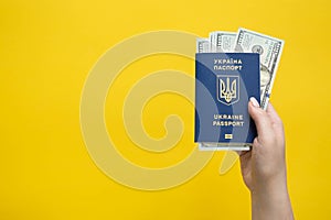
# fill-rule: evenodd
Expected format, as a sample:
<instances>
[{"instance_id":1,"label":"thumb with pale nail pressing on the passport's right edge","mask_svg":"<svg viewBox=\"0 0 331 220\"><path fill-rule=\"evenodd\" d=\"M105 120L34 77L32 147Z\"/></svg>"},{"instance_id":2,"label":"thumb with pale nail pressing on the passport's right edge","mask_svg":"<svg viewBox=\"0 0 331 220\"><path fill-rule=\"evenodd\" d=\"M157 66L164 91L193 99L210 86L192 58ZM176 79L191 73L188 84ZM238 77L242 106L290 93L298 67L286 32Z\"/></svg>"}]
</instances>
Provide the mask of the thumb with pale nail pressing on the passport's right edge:
<instances>
[{"instance_id":1,"label":"thumb with pale nail pressing on the passport's right edge","mask_svg":"<svg viewBox=\"0 0 331 220\"><path fill-rule=\"evenodd\" d=\"M271 131L271 122L268 113L259 108L259 103L254 97L250 97L248 102L248 112L255 122L257 135L266 136Z\"/></svg>"}]
</instances>

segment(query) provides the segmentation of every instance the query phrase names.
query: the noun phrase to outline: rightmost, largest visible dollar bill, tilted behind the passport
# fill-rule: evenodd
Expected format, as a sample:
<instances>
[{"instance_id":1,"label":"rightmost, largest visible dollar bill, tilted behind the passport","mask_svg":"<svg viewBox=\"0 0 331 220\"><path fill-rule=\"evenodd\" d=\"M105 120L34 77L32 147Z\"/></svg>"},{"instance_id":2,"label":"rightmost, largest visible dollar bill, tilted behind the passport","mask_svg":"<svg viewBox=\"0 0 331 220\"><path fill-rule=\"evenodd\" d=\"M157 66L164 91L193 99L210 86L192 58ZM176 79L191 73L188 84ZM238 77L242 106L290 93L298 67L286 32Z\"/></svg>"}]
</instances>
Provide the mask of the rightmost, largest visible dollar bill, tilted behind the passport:
<instances>
[{"instance_id":1,"label":"rightmost, largest visible dollar bill, tilted behind the passport","mask_svg":"<svg viewBox=\"0 0 331 220\"><path fill-rule=\"evenodd\" d=\"M235 52L260 55L260 106L263 109L268 106L282 48L282 40L246 29L239 29L237 32Z\"/></svg>"}]
</instances>

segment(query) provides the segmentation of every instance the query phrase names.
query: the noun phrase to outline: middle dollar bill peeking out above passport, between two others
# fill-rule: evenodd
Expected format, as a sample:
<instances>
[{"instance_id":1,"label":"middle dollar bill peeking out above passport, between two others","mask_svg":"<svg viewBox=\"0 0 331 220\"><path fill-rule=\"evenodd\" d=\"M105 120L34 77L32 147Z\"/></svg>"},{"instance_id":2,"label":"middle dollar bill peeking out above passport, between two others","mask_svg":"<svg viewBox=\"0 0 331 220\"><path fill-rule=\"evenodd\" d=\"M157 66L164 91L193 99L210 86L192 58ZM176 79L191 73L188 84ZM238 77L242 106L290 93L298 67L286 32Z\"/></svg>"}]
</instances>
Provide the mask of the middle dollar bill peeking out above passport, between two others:
<instances>
[{"instance_id":1,"label":"middle dollar bill peeking out above passport, between two others","mask_svg":"<svg viewBox=\"0 0 331 220\"><path fill-rule=\"evenodd\" d=\"M226 53L234 52L236 40L235 32L214 31L210 33L210 52Z\"/></svg>"}]
</instances>

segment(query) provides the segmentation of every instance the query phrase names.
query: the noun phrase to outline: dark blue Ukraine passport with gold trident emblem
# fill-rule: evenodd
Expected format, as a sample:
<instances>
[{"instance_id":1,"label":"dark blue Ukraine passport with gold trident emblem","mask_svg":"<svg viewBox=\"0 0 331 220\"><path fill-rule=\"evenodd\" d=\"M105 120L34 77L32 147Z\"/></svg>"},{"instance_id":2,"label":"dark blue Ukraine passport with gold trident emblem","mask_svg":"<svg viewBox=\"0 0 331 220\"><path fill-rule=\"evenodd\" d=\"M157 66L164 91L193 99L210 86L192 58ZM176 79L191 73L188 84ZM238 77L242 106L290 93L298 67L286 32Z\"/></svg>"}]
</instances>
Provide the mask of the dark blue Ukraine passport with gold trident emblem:
<instances>
[{"instance_id":1,"label":"dark blue Ukraine passport with gold trident emblem","mask_svg":"<svg viewBox=\"0 0 331 220\"><path fill-rule=\"evenodd\" d=\"M259 54L195 55L195 132L201 150L249 150L257 135L248 100L260 102Z\"/></svg>"}]
</instances>

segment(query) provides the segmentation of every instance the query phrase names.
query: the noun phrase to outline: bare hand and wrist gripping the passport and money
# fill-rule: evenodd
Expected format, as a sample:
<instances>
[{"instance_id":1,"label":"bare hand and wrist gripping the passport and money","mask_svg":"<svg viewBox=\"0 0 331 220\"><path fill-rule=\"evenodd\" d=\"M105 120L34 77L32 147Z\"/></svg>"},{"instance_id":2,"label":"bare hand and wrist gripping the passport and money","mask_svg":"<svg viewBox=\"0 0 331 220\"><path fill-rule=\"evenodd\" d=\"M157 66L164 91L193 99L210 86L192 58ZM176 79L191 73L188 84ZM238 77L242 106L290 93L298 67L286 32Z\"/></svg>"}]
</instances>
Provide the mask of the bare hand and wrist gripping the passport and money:
<instances>
[{"instance_id":1,"label":"bare hand and wrist gripping the passport and money","mask_svg":"<svg viewBox=\"0 0 331 220\"><path fill-rule=\"evenodd\" d=\"M241 154L241 167L250 191L252 219L293 219L287 189L282 122L270 103L264 111L254 98L248 102L248 112L258 135L252 150Z\"/></svg>"}]
</instances>

